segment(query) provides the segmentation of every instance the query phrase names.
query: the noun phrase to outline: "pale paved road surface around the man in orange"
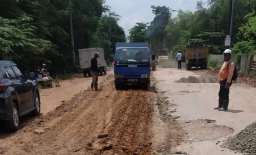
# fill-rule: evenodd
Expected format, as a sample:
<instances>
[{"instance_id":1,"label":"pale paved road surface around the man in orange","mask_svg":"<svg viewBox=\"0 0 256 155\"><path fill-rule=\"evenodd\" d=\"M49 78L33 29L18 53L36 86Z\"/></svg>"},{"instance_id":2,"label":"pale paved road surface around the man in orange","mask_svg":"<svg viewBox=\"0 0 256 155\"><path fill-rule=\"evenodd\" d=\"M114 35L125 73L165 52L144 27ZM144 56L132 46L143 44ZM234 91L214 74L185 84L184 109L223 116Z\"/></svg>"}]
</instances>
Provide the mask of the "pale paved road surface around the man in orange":
<instances>
[{"instance_id":1,"label":"pale paved road surface around the man in orange","mask_svg":"<svg viewBox=\"0 0 256 155\"><path fill-rule=\"evenodd\" d=\"M218 104L220 86L216 77L202 72L176 68L154 72L156 89L171 103L166 109L176 109L166 110L167 114L180 117L177 123L185 132L184 143L173 150L191 155L239 154L221 145L256 120L256 89L233 84L229 110L219 112L213 108Z\"/></svg>"}]
</instances>

